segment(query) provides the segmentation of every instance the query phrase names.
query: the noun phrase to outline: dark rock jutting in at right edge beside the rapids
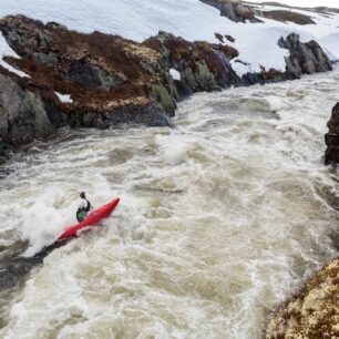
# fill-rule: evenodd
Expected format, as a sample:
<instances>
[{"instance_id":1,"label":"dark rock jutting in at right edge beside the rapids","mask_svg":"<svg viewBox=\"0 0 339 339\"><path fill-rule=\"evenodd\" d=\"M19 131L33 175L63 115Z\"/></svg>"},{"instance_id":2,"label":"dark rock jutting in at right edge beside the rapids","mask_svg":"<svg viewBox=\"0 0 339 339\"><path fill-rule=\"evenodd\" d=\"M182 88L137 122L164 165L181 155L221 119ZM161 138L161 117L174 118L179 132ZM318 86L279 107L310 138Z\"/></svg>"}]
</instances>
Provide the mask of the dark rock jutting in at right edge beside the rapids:
<instances>
[{"instance_id":1,"label":"dark rock jutting in at right edge beside the rapids","mask_svg":"<svg viewBox=\"0 0 339 339\"><path fill-rule=\"evenodd\" d=\"M332 115L327 123L329 132L325 135L327 150L325 153L325 164L339 164L339 103L332 110Z\"/></svg>"}]
</instances>

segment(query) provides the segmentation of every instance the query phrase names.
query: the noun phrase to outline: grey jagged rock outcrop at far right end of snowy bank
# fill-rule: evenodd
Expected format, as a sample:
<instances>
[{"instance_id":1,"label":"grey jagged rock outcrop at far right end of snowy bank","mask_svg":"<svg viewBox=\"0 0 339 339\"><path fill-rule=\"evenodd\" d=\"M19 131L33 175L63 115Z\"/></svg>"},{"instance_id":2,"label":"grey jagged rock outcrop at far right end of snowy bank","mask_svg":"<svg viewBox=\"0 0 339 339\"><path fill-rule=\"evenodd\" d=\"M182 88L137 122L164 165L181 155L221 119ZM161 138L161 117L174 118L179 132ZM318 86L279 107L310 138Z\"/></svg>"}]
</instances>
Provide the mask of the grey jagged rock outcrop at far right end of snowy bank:
<instances>
[{"instance_id":1,"label":"grey jagged rock outcrop at far right end of snowy bank","mask_svg":"<svg viewBox=\"0 0 339 339\"><path fill-rule=\"evenodd\" d=\"M299 35L292 33L286 40L281 38L278 44L290 52L290 56L286 58L286 71L291 79L332 70L330 60L314 40L302 43Z\"/></svg>"}]
</instances>

